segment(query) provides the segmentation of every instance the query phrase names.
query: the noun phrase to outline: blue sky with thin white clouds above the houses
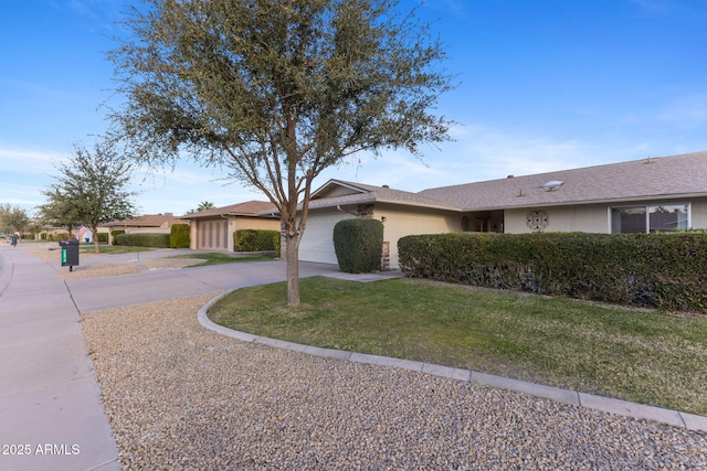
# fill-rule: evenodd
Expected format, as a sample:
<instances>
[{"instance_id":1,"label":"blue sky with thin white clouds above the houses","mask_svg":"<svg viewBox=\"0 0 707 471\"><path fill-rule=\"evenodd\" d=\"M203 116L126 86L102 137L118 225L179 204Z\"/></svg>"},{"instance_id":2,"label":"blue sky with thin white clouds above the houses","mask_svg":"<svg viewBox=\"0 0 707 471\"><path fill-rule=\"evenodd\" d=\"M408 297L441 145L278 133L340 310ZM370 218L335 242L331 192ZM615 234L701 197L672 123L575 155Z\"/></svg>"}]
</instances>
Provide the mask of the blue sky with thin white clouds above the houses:
<instances>
[{"instance_id":1,"label":"blue sky with thin white clouds above the houses","mask_svg":"<svg viewBox=\"0 0 707 471\"><path fill-rule=\"evenodd\" d=\"M27 210L73 143L106 129L105 52L126 0L0 0L0 203ZM401 0L403 7L418 4ZM428 0L460 86L454 142L360 156L329 178L420 191L707 150L707 0ZM262 200L188 161L137 172L141 213Z\"/></svg>"}]
</instances>

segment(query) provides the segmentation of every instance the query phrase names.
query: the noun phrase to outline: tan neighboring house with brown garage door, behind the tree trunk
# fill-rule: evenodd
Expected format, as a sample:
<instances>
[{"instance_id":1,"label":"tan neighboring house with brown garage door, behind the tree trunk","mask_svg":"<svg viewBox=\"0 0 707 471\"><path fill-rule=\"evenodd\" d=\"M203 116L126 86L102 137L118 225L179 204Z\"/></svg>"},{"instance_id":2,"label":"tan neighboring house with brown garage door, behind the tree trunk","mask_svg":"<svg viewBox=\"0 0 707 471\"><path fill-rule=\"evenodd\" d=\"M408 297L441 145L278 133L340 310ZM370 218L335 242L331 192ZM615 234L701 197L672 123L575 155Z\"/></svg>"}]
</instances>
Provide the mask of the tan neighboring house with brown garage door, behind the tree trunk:
<instances>
[{"instance_id":1,"label":"tan neighboring house with brown garage door, behind the tree trunk","mask_svg":"<svg viewBox=\"0 0 707 471\"><path fill-rule=\"evenodd\" d=\"M182 216L190 221L192 249L233 251L233 233L241 229L279 231L276 207L265 201L249 201Z\"/></svg>"}]
</instances>

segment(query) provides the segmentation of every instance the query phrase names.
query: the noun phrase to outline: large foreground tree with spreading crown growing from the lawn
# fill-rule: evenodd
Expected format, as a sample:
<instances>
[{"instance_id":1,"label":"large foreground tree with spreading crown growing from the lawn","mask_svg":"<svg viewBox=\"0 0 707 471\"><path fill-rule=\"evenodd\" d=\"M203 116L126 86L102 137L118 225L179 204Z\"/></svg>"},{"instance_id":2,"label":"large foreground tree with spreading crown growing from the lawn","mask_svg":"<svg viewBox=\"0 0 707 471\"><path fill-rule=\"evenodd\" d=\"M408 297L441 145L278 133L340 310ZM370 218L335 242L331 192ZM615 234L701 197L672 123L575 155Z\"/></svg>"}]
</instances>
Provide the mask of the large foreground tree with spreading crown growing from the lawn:
<instances>
[{"instance_id":1,"label":"large foreground tree with spreading crown growing from the lawn","mask_svg":"<svg viewBox=\"0 0 707 471\"><path fill-rule=\"evenodd\" d=\"M189 156L262 191L285 227L288 304L313 180L356 152L449 139L440 42L395 0L148 0L108 57L112 118L155 167ZM298 208L298 203L299 208Z\"/></svg>"}]
</instances>

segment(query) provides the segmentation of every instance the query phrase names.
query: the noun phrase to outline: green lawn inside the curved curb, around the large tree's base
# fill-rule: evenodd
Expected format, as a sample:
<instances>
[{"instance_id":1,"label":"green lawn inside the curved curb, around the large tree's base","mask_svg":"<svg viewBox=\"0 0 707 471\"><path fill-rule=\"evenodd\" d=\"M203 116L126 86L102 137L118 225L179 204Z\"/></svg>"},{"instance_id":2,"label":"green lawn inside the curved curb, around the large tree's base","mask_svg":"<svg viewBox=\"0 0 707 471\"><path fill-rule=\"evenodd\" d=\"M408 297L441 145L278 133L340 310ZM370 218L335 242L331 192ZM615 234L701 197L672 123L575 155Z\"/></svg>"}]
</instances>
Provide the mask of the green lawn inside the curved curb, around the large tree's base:
<instances>
[{"instance_id":1,"label":"green lawn inside the curved curb, around the large tree's base","mask_svg":"<svg viewBox=\"0 0 707 471\"><path fill-rule=\"evenodd\" d=\"M329 349L416 360L707 415L707 318L414 279L240 289L217 323Z\"/></svg>"}]
</instances>

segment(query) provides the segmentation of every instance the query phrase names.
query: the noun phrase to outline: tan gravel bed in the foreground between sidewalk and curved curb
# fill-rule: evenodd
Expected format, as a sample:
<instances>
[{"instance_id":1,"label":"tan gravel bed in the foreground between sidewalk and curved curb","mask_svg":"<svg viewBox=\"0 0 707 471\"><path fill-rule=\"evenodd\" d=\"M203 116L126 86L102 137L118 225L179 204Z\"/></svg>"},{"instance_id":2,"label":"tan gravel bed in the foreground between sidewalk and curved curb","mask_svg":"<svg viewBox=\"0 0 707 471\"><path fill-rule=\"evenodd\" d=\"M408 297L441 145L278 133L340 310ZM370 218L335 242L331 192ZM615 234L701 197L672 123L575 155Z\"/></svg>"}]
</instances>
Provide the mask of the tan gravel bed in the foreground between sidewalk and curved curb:
<instances>
[{"instance_id":1,"label":"tan gravel bed in the foreground between sidewalk and curved curb","mask_svg":"<svg viewBox=\"0 0 707 471\"><path fill-rule=\"evenodd\" d=\"M83 315L124 469L707 469L707 433L219 335L212 296Z\"/></svg>"}]
</instances>

